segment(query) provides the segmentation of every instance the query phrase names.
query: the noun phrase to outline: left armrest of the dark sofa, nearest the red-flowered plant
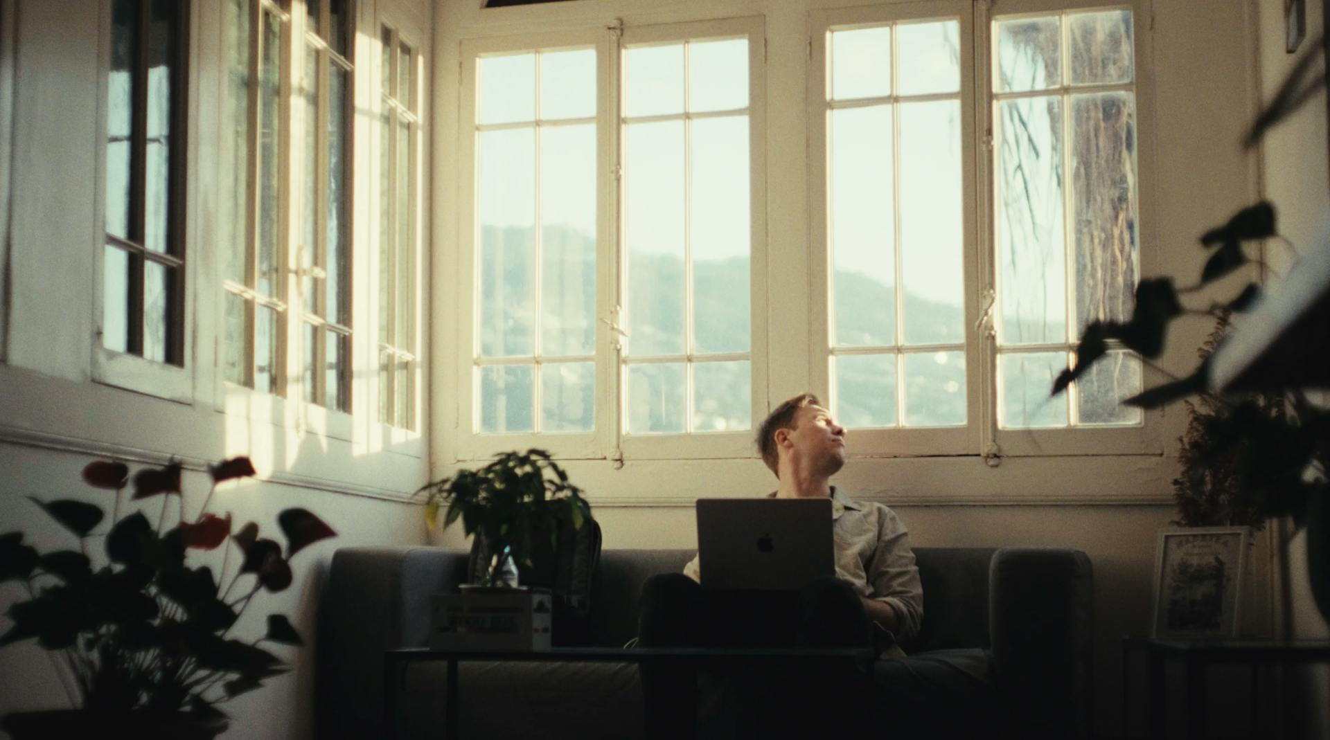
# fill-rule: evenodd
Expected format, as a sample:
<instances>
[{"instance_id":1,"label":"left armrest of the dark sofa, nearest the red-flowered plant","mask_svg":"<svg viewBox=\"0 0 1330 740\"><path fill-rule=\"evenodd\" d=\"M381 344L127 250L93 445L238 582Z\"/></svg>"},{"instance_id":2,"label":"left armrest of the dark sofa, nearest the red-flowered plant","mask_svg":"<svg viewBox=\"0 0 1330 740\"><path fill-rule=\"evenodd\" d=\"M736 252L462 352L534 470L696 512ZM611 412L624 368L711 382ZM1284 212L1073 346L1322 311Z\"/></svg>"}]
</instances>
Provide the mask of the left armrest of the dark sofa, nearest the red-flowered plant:
<instances>
[{"instance_id":1,"label":"left armrest of the dark sofa, nearest the red-flowered plant","mask_svg":"<svg viewBox=\"0 0 1330 740\"><path fill-rule=\"evenodd\" d=\"M374 737L383 652L428 642L430 597L456 591L467 554L442 547L342 547L319 602L315 737Z\"/></svg>"}]
</instances>

